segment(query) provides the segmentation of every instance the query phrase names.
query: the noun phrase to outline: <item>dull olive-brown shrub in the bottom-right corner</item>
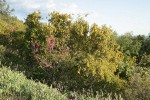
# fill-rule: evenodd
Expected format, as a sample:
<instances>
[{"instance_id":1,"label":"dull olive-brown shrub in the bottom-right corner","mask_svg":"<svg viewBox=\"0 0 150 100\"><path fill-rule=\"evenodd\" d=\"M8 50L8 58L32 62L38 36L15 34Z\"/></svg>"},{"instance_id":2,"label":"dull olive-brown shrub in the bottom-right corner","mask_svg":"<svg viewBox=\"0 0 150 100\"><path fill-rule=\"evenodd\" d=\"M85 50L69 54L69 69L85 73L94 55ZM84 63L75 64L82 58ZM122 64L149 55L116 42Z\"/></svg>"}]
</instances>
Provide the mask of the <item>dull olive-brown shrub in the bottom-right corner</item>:
<instances>
[{"instance_id":1,"label":"dull olive-brown shrub in the bottom-right corner","mask_svg":"<svg viewBox=\"0 0 150 100\"><path fill-rule=\"evenodd\" d=\"M125 91L127 100L150 100L150 70L137 68Z\"/></svg>"}]
</instances>

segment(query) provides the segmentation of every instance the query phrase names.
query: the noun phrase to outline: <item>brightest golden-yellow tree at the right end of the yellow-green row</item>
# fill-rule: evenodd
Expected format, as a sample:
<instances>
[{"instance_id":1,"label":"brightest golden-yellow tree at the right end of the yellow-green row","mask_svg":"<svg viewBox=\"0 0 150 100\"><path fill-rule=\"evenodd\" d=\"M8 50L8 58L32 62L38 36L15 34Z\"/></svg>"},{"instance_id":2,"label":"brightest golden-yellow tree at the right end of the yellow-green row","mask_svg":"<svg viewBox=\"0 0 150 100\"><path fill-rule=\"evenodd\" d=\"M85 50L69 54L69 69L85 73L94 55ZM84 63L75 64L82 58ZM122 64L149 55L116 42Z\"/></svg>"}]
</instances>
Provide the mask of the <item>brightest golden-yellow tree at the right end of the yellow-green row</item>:
<instances>
[{"instance_id":1,"label":"brightest golden-yellow tree at the right end of the yellow-green row","mask_svg":"<svg viewBox=\"0 0 150 100\"><path fill-rule=\"evenodd\" d=\"M106 26L99 28L97 25L93 25L90 30L90 43L92 46L93 61L96 65L89 64L89 70L93 71L93 74L100 75L102 79L111 80L114 76L114 72L118 68L119 63L123 60L122 53L118 50L115 39L112 36L112 30ZM93 67L93 68L92 68Z\"/></svg>"}]
</instances>

